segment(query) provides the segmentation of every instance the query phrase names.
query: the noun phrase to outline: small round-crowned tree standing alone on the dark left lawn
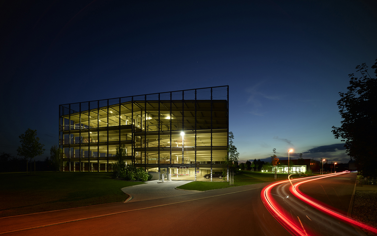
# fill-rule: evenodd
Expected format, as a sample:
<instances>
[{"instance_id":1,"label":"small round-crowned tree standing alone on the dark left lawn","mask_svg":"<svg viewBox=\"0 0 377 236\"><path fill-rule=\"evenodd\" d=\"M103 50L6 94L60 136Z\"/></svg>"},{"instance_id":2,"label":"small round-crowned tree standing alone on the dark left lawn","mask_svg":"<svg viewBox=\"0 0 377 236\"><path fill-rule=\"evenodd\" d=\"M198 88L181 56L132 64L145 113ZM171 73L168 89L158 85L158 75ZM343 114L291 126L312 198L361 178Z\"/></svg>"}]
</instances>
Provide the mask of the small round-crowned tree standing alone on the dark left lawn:
<instances>
[{"instance_id":1,"label":"small round-crowned tree standing alone on the dark left lawn","mask_svg":"<svg viewBox=\"0 0 377 236\"><path fill-rule=\"evenodd\" d=\"M34 158L40 156L44 152L43 144L39 143L37 130L28 128L25 134L18 136L20 138L21 146L17 148L18 155L25 158Z\"/></svg>"}]
</instances>

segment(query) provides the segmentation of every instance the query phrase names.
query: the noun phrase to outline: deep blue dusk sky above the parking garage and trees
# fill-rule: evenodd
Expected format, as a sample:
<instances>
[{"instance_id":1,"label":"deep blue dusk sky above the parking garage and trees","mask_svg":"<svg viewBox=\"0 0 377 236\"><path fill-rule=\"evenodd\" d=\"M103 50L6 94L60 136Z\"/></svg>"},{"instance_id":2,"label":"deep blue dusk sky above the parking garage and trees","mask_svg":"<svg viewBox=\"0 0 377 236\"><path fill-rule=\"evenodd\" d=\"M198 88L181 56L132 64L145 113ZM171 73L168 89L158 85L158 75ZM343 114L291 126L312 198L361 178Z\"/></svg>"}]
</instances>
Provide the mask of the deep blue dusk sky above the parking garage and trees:
<instances>
[{"instance_id":1,"label":"deep blue dusk sky above the parking garage and trees","mask_svg":"<svg viewBox=\"0 0 377 236\"><path fill-rule=\"evenodd\" d=\"M376 1L8 2L0 152L17 155L32 128L43 160L58 143L60 104L229 85L241 161L273 148L349 160L331 126L348 74L377 57Z\"/></svg>"}]
</instances>

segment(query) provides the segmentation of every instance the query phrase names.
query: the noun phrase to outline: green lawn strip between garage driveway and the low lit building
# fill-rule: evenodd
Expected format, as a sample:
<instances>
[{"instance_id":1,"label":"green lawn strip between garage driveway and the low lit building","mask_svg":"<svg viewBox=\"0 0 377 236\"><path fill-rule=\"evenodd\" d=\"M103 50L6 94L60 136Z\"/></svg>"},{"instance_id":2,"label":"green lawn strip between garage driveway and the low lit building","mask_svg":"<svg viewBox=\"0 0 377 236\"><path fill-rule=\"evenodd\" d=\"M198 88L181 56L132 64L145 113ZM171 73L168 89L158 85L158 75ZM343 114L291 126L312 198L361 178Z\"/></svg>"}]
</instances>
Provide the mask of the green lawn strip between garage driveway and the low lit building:
<instances>
[{"instance_id":1,"label":"green lawn strip between garage driveway and the low lit building","mask_svg":"<svg viewBox=\"0 0 377 236\"><path fill-rule=\"evenodd\" d=\"M301 175L306 176L306 175ZM298 178L299 175L292 175L293 178ZM287 174L277 174L277 181L288 180ZM259 184L266 182L273 182L275 180L275 174L262 173L262 172L250 172L241 171L240 174L234 175L234 185L229 185L229 182L208 182L208 181L193 181L177 187L178 189L186 190L198 190L207 191L212 189L224 189L228 187L236 187L248 184Z\"/></svg>"}]
</instances>

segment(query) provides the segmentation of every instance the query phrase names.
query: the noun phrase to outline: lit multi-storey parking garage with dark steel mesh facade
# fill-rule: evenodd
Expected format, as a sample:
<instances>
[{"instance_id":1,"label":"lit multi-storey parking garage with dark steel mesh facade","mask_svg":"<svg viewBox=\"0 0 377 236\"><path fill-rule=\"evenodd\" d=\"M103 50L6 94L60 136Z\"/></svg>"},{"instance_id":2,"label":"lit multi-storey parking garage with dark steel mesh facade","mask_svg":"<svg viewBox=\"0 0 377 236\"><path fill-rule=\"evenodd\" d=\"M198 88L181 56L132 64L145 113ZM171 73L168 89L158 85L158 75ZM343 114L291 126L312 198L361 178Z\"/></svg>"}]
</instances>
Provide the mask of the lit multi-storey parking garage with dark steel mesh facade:
<instances>
[{"instance_id":1,"label":"lit multi-storey parking garage with dark steel mesh facade","mask_svg":"<svg viewBox=\"0 0 377 236\"><path fill-rule=\"evenodd\" d=\"M229 132L228 86L59 106L64 171L111 171L115 148L127 164L201 180L222 171ZM161 175L160 175L161 176Z\"/></svg>"}]
</instances>

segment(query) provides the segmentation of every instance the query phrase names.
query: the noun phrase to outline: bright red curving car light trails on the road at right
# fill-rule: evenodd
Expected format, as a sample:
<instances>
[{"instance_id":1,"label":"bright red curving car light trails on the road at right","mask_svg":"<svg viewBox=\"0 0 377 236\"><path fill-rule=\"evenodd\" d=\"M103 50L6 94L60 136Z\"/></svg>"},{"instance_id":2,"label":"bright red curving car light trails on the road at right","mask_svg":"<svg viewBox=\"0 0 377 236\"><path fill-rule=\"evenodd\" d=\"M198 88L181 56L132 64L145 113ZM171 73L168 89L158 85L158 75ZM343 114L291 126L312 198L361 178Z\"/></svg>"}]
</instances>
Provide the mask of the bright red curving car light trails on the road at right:
<instances>
[{"instance_id":1,"label":"bright red curving car light trails on the road at right","mask_svg":"<svg viewBox=\"0 0 377 236\"><path fill-rule=\"evenodd\" d=\"M340 172L340 173L337 173L337 174L329 174L329 175L325 175L325 176L320 177L320 178L313 178L313 177L303 178L302 181L293 184L293 186L290 187L290 191L294 196L296 196L296 198L298 198L301 201L303 201L304 203L309 204L310 206L322 211L323 213L326 213L326 214L332 216L333 218L339 219L339 220L341 220L341 221L343 221L347 224L353 225L353 226L364 228L366 230L369 230L369 231L377 234L377 228L374 228L370 225L364 224L360 221L349 218L348 216L345 216L343 214L335 212L334 210L323 206L323 204L320 204L319 201L311 198L310 196L306 195L305 193L302 193L299 190L299 186L303 183L307 183L309 181L318 180L318 179L322 179L322 178L334 177L336 175L341 175L341 174L345 174L345 173L349 173L349 172ZM308 179L308 178L310 178L310 179ZM310 234L307 232L307 230L305 231L301 222L299 222L297 219L293 219L291 217L291 214L287 214L286 211L283 209L283 207L281 207L275 201L275 199L273 198L273 196L271 194L271 189L273 189L273 187L275 187L279 184L287 183L288 181L289 180L276 182L276 183L273 183L273 184L270 184L270 185L264 187L264 189L261 192L262 201L263 201L265 207L267 208L267 210L271 213L271 215L275 216L277 221L284 228L286 228L292 235L308 236Z\"/></svg>"}]
</instances>

